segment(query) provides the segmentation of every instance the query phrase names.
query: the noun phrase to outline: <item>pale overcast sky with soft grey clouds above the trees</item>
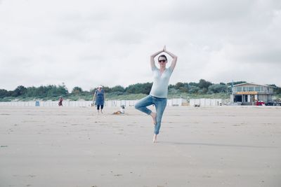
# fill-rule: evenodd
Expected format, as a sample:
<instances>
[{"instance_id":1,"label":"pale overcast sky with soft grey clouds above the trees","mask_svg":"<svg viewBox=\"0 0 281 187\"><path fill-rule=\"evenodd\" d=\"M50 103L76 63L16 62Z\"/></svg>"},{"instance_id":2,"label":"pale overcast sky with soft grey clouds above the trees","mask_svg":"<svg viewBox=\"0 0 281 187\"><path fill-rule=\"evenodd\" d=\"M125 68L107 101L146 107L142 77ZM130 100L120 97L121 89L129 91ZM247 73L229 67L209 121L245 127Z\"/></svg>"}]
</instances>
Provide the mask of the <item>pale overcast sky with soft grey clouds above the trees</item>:
<instances>
[{"instance_id":1,"label":"pale overcast sky with soft grey clouds above the trees","mask_svg":"<svg viewBox=\"0 0 281 187\"><path fill-rule=\"evenodd\" d=\"M280 0L0 0L0 89L152 82L164 45L171 84L281 86L280 33Z\"/></svg>"}]
</instances>

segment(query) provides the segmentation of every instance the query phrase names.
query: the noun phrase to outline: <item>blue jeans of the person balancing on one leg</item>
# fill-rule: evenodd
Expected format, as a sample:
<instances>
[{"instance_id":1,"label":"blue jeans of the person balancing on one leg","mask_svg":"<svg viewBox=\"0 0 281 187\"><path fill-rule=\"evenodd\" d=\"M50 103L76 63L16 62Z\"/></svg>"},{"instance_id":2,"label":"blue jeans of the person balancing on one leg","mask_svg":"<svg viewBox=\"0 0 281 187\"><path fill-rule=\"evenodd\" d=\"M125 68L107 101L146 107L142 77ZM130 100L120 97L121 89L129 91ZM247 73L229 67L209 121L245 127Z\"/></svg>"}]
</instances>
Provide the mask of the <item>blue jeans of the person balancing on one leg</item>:
<instances>
[{"instance_id":1,"label":"blue jeans of the person balancing on one leg","mask_svg":"<svg viewBox=\"0 0 281 187\"><path fill-rule=\"evenodd\" d=\"M150 115L152 111L148 109L146 106L150 106L152 104L155 105L155 109L156 109L156 125L155 125L154 133L159 134L162 116L166 108L166 98L159 98L159 97L153 97L152 95L148 95L143 99L139 100L135 104L135 108L138 109L139 111L142 111Z\"/></svg>"}]
</instances>

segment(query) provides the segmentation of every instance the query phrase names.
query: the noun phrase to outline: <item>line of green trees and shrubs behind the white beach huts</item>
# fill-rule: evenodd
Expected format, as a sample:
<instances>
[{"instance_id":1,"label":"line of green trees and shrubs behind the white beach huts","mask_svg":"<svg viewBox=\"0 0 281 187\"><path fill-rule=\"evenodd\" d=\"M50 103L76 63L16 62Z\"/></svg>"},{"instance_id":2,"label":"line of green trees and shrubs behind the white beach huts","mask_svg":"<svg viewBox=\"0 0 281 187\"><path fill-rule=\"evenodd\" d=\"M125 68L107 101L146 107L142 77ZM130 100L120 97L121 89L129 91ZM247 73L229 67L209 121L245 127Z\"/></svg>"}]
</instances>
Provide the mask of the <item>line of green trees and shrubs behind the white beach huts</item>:
<instances>
[{"instance_id":1,"label":"line of green trees and shrubs behind the white beach huts","mask_svg":"<svg viewBox=\"0 0 281 187\"><path fill-rule=\"evenodd\" d=\"M211 83L209 81L205 81L204 79L200 79L198 83L176 83L175 85L169 85L169 93L189 93L189 94L214 94L214 93L228 93L231 91L230 85L236 85L240 83L245 83L245 81L238 81L234 83ZM275 87L275 93L281 94L281 88L278 88L276 85L272 85ZM150 89L152 87L152 83L136 83L133 85L129 85L124 88L121 85L116 85L112 88L104 86L103 89L107 93L111 93L112 95L126 95L126 94L145 94L148 95L150 93ZM0 89L0 98L4 97L36 97L36 98L46 98L46 97L66 97L70 95L92 95L94 90L86 91L82 90L80 87L76 86L72 89L71 92L67 90L65 84L62 85L41 85L38 88L34 86L25 88L22 85L19 85L15 90L8 91L4 89Z\"/></svg>"}]
</instances>

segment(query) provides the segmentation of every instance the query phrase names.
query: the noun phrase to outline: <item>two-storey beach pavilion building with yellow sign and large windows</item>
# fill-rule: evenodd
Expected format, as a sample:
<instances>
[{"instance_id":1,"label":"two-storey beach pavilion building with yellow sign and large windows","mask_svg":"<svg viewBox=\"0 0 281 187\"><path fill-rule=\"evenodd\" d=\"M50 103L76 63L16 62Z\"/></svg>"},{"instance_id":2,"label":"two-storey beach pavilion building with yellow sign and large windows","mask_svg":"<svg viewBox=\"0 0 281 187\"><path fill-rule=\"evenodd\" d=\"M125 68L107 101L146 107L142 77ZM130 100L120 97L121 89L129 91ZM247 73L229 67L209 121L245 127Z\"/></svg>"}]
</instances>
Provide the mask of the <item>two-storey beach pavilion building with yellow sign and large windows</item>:
<instances>
[{"instance_id":1,"label":"two-storey beach pavilion building with yellow sign and large windows","mask_svg":"<svg viewBox=\"0 0 281 187\"><path fill-rule=\"evenodd\" d=\"M255 83L233 85L230 101L233 104L254 105L256 101L272 102L273 87Z\"/></svg>"}]
</instances>

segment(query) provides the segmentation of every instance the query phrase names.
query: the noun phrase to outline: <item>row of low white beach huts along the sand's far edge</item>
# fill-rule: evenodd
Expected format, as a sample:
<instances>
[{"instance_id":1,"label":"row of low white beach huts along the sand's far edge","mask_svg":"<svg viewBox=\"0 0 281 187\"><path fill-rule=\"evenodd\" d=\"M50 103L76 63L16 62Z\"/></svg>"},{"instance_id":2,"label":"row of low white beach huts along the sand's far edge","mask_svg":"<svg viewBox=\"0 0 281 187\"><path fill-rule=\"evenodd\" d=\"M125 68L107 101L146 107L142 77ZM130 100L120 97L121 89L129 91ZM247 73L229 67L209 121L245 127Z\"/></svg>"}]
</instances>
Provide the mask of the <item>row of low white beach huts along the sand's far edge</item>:
<instances>
[{"instance_id":1,"label":"row of low white beach huts along the sand's far edge","mask_svg":"<svg viewBox=\"0 0 281 187\"><path fill-rule=\"evenodd\" d=\"M134 106L138 100L108 100L105 106ZM221 106L225 104L223 99L168 99L167 106ZM92 101L63 101L63 106L87 107L92 106ZM0 106L58 106L55 101L30 101L30 102L0 102Z\"/></svg>"}]
</instances>

